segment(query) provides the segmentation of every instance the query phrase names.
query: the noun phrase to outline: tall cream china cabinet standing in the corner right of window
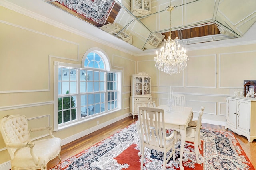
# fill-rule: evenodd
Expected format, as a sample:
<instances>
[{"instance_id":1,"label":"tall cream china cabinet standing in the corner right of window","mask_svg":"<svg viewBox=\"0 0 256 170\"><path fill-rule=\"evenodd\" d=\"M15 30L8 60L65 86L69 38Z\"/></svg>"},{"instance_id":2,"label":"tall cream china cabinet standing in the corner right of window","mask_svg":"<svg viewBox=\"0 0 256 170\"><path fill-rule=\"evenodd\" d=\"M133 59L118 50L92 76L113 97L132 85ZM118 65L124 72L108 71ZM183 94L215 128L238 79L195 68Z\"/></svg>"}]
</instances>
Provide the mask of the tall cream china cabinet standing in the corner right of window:
<instances>
[{"instance_id":1,"label":"tall cream china cabinet standing in the corner right of window","mask_svg":"<svg viewBox=\"0 0 256 170\"><path fill-rule=\"evenodd\" d=\"M139 72L131 76L130 113L138 115L138 106L147 106L152 101L151 76L146 72Z\"/></svg>"}]
</instances>

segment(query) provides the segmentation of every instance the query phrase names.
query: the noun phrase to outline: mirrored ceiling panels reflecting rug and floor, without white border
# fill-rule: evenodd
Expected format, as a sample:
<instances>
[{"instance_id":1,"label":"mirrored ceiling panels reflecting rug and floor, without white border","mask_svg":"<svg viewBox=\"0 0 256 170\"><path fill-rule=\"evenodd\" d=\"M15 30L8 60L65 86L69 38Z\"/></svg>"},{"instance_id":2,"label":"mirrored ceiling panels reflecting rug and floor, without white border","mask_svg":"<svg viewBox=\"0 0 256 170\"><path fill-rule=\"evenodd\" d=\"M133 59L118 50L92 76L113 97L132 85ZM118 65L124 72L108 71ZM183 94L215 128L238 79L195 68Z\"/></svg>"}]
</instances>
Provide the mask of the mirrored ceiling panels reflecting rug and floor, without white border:
<instances>
[{"instance_id":1,"label":"mirrored ceiling panels reflecting rug and floor, without white border","mask_svg":"<svg viewBox=\"0 0 256 170\"><path fill-rule=\"evenodd\" d=\"M240 38L256 21L255 0L144 0L150 3L146 14L134 8L143 0L132 1L46 0L141 50L160 47L170 36L170 25L172 39L186 45ZM166 11L170 5L171 21Z\"/></svg>"}]
</instances>

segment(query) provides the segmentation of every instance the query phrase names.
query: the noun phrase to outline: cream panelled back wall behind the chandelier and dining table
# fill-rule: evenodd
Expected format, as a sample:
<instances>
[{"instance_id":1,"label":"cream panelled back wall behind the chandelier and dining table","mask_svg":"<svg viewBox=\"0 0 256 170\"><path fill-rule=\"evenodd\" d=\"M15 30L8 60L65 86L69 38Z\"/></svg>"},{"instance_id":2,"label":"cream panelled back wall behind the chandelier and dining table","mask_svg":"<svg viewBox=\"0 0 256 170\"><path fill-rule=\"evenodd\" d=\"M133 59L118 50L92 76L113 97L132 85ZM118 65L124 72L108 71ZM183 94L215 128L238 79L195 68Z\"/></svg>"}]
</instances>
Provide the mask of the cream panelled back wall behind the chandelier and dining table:
<instances>
[{"instance_id":1,"label":"cream panelled back wall behind the chandelier and dining table","mask_svg":"<svg viewBox=\"0 0 256 170\"><path fill-rule=\"evenodd\" d=\"M138 71L152 75L152 96L156 105L166 104L168 88L185 95L195 119L205 106L202 122L225 125L226 96L243 89L243 80L256 80L256 44L188 51L187 68L168 76L154 66L154 56L138 57Z\"/></svg>"}]
</instances>

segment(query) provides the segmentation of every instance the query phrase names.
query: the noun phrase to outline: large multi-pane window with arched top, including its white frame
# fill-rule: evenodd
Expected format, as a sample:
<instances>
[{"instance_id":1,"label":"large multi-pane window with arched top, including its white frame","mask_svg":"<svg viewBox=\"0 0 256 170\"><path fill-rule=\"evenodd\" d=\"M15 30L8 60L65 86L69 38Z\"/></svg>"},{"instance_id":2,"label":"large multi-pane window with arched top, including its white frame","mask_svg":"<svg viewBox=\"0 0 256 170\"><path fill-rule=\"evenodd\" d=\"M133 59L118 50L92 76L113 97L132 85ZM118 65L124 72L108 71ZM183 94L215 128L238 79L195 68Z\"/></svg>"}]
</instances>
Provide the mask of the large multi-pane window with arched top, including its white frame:
<instances>
[{"instance_id":1,"label":"large multi-pane window with arched top, including its white frame","mask_svg":"<svg viewBox=\"0 0 256 170\"><path fill-rule=\"evenodd\" d=\"M121 74L100 49L88 50L80 66L55 62L54 71L54 130L120 109Z\"/></svg>"}]
</instances>

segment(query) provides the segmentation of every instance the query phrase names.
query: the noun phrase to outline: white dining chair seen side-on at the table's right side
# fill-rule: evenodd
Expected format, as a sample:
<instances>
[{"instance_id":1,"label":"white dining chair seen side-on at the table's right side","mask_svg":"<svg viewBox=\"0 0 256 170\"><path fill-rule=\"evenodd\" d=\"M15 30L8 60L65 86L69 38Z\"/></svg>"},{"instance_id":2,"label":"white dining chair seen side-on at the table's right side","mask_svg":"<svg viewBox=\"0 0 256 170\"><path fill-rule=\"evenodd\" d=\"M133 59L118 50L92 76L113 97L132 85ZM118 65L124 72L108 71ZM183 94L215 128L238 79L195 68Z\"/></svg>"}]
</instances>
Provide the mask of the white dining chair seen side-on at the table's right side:
<instances>
[{"instance_id":1,"label":"white dining chair seen side-on at the table's right side","mask_svg":"<svg viewBox=\"0 0 256 170\"><path fill-rule=\"evenodd\" d=\"M186 144L194 146L195 152L190 152L187 150L183 151L186 153L195 154L197 163L200 163L200 160L199 160L199 149L201 150L200 127L201 127L203 113L204 113L204 107L201 106L198 120L196 122L196 127L187 127L187 131L186 131ZM180 139L180 133L178 132L177 132L177 138Z\"/></svg>"}]
</instances>

